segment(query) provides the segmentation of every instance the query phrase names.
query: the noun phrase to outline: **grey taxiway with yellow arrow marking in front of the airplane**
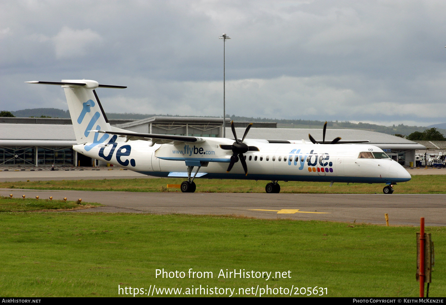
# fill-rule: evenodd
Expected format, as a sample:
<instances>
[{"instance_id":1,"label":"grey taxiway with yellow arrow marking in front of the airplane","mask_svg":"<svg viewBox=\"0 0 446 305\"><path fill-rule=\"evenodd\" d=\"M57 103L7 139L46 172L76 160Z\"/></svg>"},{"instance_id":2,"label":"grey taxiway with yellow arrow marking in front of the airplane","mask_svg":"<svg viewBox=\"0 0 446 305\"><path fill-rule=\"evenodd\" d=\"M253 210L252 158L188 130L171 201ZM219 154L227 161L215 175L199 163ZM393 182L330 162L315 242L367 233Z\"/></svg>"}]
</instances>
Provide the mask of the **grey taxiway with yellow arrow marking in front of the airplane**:
<instances>
[{"instance_id":1,"label":"grey taxiway with yellow arrow marking in front of the airplane","mask_svg":"<svg viewBox=\"0 0 446 305\"><path fill-rule=\"evenodd\" d=\"M446 194L260 194L146 193L0 189L1 196L99 202L106 206L77 212L237 215L254 218L327 220L348 223L446 226Z\"/></svg>"}]
</instances>

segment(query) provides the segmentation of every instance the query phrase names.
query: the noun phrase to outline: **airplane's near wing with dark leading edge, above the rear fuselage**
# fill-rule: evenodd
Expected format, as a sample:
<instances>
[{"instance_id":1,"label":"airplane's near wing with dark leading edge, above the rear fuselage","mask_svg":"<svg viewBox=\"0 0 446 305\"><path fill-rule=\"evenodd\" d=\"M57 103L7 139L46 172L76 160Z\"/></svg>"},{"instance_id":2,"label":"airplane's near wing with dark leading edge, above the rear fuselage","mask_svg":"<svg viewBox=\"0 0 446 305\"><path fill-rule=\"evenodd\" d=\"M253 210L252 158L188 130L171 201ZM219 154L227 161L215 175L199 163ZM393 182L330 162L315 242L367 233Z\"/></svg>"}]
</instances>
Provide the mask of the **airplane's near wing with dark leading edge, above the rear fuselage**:
<instances>
[{"instance_id":1,"label":"airplane's near wing with dark leading edge, above the rear fuselage","mask_svg":"<svg viewBox=\"0 0 446 305\"><path fill-rule=\"evenodd\" d=\"M155 133L137 133L137 132L116 132L116 131L103 131L103 130L90 130L90 132L108 133L111 135L117 135L120 137L125 137L125 142L128 140L145 140L151 141L149 146L155 144L167 144L172 142L184 143L202 143L204 139L195 136L173 136L173 135L158 135Z\"/></svg>"}]
</instances>

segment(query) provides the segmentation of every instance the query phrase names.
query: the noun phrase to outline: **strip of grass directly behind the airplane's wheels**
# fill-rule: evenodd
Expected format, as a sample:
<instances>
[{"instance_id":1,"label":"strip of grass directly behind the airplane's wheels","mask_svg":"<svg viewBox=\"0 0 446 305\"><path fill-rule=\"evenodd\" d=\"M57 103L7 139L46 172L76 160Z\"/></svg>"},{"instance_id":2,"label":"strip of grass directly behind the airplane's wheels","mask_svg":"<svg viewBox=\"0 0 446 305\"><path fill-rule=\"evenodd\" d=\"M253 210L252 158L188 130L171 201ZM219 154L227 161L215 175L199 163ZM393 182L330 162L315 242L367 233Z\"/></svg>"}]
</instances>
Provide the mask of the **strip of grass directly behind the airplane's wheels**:
<instances>
[{"instance_id":1,"label":"strip of grass directly behind the airplane's wheels","mask_svg":"<svg viewBox=\"0 0 446 305\"><path fill-rule=\"evenodd\" d=\"M181 184L183 178L149 179L103 179L62 181L19 181L0 182L0 188L34 190L92 190L162 192L178 191L166 189L167 184ZM269 181L196 179L196 192L211 193L264 193ZM382 194L384 184L335 183L332 187L325 182L279 181L281 193L334 193L334 194ZM395 194L446 194L446 175L418 175L408 182L395 185Z\"/></svg>"}]
</instances>

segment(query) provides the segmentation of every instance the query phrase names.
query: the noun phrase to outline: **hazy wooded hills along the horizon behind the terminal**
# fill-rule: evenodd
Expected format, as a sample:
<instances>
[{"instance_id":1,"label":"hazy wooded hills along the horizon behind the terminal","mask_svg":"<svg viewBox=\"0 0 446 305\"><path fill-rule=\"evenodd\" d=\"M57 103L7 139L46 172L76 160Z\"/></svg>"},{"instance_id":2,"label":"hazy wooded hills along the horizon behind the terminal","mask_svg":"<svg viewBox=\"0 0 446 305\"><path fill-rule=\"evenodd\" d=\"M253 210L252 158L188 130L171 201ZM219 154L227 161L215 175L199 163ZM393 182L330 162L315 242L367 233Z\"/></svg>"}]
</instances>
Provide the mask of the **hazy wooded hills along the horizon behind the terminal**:
<instances>
[{"instance_id":1,"label":"hazy wooded hills along the horizon behind the terminal","mask_svg":"<svg viewBox=\"0 0 446 305\"><path fill-rule=\"evenodd\" d=\"M35 109L24 109L18 111L11 111L11 113L17 117L39 117L41 115L50 116L53 118L70 118L70 112L68 110L55 109L55 108L35 108ZM162 115L162 114L139 114L139 113L107 113L108 119L135 119L141 120L145 118L149 118L152 116L169 116L169 117L180 117L182 115ZM210 116L194 116L188 115L190 117L210 117ZM218 116L211 116L218 117ZM245 117L245 116L236 116L231 115L232 120L239 122L277 122L278 128L322 128L324 123L323 121L318 120L284 120L284 119L268 119L268 118L253 118L253 117ZM362 130L370 130L376 132L383 132L387 134L401 134L408 136L412 132L423 132L429 128L437 128L439 132L443 135L446 135L446 123L442 124L434 124L427 127L423 126L408 126L404 124L400 124L398 126L383 126L376 124L368 124L368 123L351 123L348 121L345 122L328 122L327 127L330 129L362 129Z\"/></svg>"}]
</instances>

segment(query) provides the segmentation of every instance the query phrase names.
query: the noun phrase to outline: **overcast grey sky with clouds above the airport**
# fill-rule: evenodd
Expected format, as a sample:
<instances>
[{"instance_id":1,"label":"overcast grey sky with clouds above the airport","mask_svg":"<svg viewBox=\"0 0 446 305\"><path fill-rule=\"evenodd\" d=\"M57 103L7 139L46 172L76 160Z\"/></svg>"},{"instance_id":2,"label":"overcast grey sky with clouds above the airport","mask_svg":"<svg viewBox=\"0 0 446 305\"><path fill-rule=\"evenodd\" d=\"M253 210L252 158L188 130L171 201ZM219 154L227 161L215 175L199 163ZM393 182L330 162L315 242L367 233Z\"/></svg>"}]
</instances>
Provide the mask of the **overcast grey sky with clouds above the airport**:
<instances>
[{"instance_id":1,"label":"overcast grey sky with clouds above the airport","mask_svg":"<svg viewBox=\"0 0 446 305\"><path fill-rule=\"evenodd\" d=\"M446 1L0 2L0 110L93 79L107 112L444 123Z\"/></svg>"}]
</instances>

